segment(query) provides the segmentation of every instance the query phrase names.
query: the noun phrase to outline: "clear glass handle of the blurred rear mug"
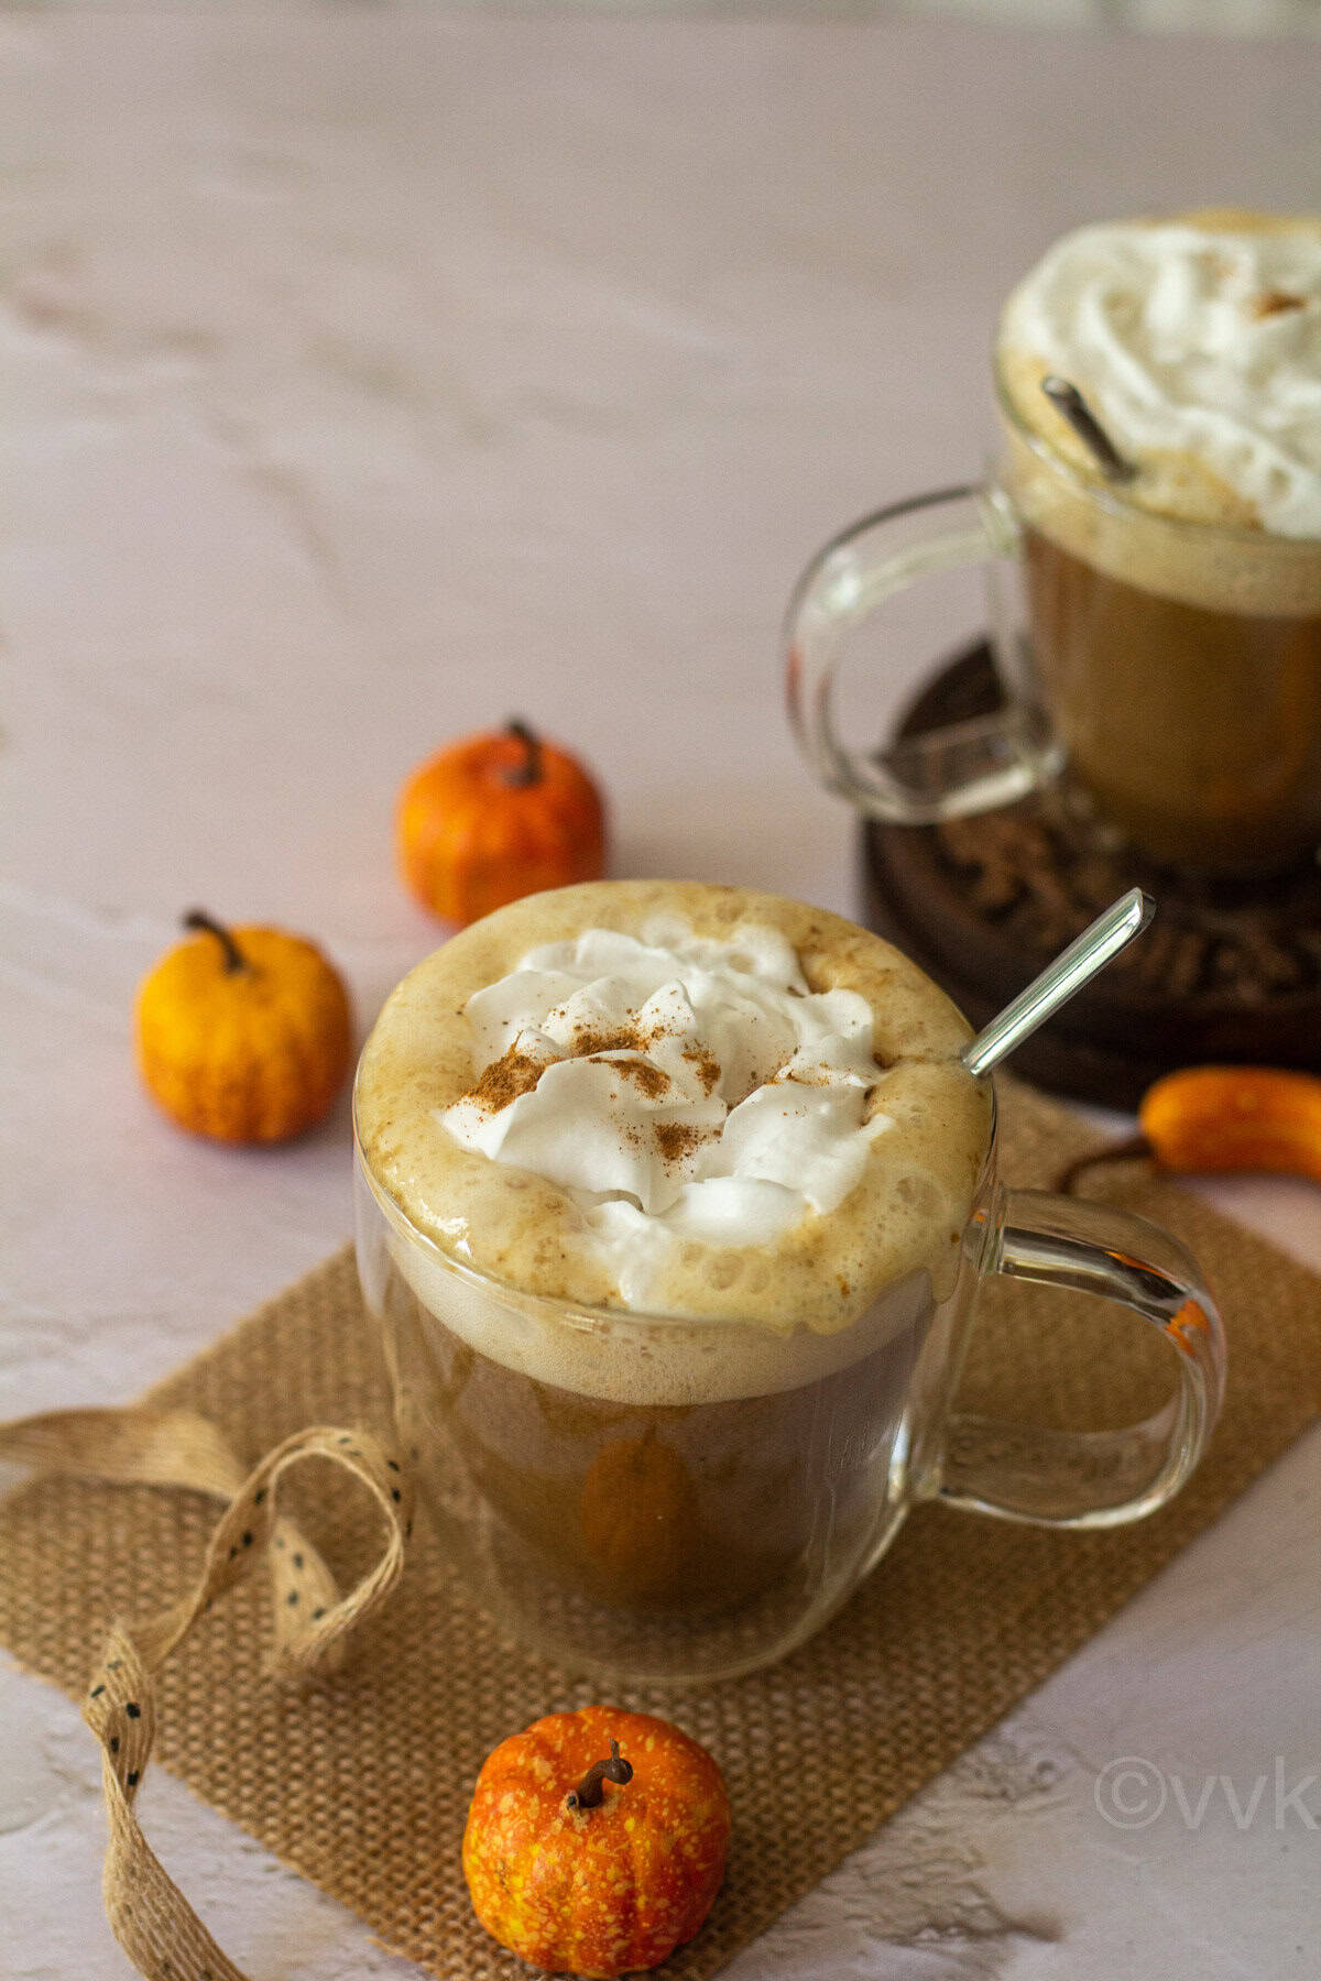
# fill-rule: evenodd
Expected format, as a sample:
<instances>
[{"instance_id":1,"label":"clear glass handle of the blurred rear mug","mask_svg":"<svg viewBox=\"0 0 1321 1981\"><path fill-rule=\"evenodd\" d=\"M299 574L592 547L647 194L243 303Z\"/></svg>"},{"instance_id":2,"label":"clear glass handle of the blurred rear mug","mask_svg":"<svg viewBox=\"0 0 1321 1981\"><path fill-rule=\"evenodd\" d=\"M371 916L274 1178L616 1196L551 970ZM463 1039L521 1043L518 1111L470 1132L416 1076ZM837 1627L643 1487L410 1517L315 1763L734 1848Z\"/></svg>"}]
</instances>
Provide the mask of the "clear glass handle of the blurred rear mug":
<instances>
[{"instance_id":1,"label":"clear glass handle of the blurred rear mug","mask_svg":"<svg viewBox=\"0 0 1321 1981\"><path fill-rule=\"evenodd\" d=\"M931 826L1012 804L1058 775L1060 745L1042 711L1022 699L865 755L846 749L834 727L848 636L877 606L917 578L1016 549L1008 501L994 489L955 487L877 509L812 559L784 620L786 687L798 747L828 790L871 818Z\"/></svg>"}]
</instances>

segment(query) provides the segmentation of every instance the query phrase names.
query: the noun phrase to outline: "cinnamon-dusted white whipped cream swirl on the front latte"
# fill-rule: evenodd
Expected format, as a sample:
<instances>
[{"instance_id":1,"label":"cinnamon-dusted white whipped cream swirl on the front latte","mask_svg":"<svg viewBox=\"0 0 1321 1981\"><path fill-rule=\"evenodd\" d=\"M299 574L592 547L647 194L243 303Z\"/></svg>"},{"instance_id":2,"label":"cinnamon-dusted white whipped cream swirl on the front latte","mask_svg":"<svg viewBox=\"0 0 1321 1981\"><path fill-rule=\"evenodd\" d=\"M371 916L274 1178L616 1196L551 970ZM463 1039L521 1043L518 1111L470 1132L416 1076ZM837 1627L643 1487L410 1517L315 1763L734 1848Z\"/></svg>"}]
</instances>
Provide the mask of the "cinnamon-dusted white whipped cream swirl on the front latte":
<instances>
[{"instance_id":1,"label":"cinnamon-dusted white whipped cream swirl on the front latte","mask_svg":"<svg viewBox=\"0 0 1321 1981\"><path fill-rule=\"evenodd\" d=\"M675 1238L762 1244L834 1210L893 1125L871 1107L871 1006L812 992L774 929L586 929L529 951L463 1014L479 1078L438 1119L564 1189L624 1300Z\"/></svg>"}]
</instances>

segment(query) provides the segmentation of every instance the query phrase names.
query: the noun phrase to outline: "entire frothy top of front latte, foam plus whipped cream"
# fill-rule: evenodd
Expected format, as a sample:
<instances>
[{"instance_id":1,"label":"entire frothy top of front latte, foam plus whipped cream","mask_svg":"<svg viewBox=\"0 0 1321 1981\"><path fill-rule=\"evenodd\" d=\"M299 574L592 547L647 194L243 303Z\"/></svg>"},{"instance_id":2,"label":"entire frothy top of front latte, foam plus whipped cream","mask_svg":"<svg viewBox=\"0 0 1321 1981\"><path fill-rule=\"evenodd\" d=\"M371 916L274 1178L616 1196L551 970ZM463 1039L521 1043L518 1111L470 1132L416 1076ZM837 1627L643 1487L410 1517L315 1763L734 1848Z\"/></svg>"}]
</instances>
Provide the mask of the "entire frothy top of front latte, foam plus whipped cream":
<instances>
[{"instance_id":1,"label":"entire frothy top of front latte, foam plus whipped cream","mask_svg":"<svg viewBox=\"0 0 1321 1981\"><path fill-rule=\"evenodd\" d=\"M949 1292L988 1139L966 1038L915 965L820 909L568 887L398 987L358 1139L398 1270L483 1355L620 1403L753 1397ZM608 1311L574 1327L539 1300Z\"/></svg>"}]
</instances>

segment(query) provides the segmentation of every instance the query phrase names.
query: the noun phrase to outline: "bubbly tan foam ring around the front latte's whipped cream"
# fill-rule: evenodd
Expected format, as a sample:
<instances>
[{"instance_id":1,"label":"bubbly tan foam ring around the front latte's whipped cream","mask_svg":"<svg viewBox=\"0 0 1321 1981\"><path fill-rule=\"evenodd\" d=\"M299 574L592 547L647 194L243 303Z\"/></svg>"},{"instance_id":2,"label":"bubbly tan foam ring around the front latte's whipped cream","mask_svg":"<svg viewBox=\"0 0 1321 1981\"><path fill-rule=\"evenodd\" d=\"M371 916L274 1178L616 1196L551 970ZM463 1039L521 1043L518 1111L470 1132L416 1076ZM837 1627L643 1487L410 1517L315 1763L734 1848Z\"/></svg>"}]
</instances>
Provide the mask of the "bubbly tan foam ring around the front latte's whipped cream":
<instances>
[{"instance_id":1,"label":"bubbly tan foam ring around the front latte's whipped cream","mask_svg":"<svg viewBox=\"0 0 1321 1981\"><path fill-rule=\"evenodd\" d=\"M735 931L772 931L796 953L810 994L848 990L871 1014L875 1080L867 1105L893 1127L867 1143L858 1185L828 1214L808 1208L768 1242L683 1238L652 1280L658 1311L747 1323L699 1333L707 1365L713 1343L737 1365L719 1379L719 1393L753 1395L770 1375L761 1361L782 1359L790 1335L798 1335L790 1365L814 1367L810 1335L852 1329L885 1290L913 1276L927 1290L947 1292L957 1274L986 1155L990 1099L959 1064L968 1038L965 1020L879 937L774 895L679 882L602 882L517 901L428 957L386 1002L358 1068L358 1141L372 1187L392 1208L400 1270L432 1311L446 1317L463 1309L456 1325L485 1353L507 1359L509 1329L495 1313L483 1327L481 1294L467 1300L469 1284L459 1288L459 1276L436 1250L505 1282L515 1305L519 1294L626 1305L608 1250L570 1191L461 1147L436 1115L471 1090L487 1058L463 1014L473 992L509 977L541 943L574 939L584 929L642 937L656 915L677 917L695 939L723 943L737 941ZM410 1230L418 1234L412 1244ZM493 1302L495 1294L487 1294ZM875 1327L889 1325L881 1315L860 1331L865 1341L824 1353L852 1359L875 1343ZM782 1337L780 1349L774 1337ZM600 1377L588 1383L586 1347L574 1349L570 1327L553 1327L551 1341L559 1345L537 1351L545 1381L612 1393ZM691 1363L697 1351L685 1353ZM695 1395L711 1393L713 1373L707 1367L707 1379L693 1379ZM669 1371L665 1391L675 1387Z\"/></svg>"}]
</instances>

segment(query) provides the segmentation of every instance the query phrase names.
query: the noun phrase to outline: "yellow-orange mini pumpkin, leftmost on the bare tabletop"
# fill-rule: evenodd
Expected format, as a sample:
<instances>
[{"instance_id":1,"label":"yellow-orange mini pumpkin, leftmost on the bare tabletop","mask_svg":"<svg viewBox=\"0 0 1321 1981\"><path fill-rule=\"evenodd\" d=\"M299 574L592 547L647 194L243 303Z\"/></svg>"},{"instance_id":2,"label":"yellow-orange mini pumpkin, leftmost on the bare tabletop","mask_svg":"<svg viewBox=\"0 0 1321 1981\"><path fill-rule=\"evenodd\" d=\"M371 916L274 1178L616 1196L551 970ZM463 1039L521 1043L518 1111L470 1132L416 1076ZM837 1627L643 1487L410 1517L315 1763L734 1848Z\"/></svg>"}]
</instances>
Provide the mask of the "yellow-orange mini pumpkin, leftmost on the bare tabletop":
<instances>
[{"instance_id":1,"label":"yellow-orange mini pumpkin, leftmost on the bare tabletop","mask_svg":"<svg viewBox=\"0 0 1321 1981\"><path fill-rule=\"evenodd\" d=\"M143 979L137 1056L158 1105L194 1135L285 1141L329 1113L345 1084L353 1020L321 951L283 929L196 935Z\"/></svg>"}]
</instances>

